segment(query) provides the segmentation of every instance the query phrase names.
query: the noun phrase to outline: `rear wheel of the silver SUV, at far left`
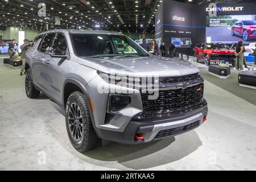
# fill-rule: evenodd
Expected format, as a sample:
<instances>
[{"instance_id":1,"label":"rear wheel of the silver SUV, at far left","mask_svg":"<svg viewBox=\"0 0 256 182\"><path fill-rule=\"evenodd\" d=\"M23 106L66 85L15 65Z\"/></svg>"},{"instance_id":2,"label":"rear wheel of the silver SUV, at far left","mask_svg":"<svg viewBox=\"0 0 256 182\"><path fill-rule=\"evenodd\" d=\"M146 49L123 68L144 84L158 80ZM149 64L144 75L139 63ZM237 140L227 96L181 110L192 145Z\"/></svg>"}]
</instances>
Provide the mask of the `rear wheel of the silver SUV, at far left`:
<instances>
[{"instance_id":1,"label":"rear wheel of the silver SUV, at far left","mask_svg":"<svg viewBox=\"0 0 256 182\"><path fill-rule=\"evenodd\" d=\"M28 98L37 98L40 95L40 91L35 89L33 85L33 77L31 69L27 70L26 80L25 80L25 89Z\"/></svg>"}]
</instances>

